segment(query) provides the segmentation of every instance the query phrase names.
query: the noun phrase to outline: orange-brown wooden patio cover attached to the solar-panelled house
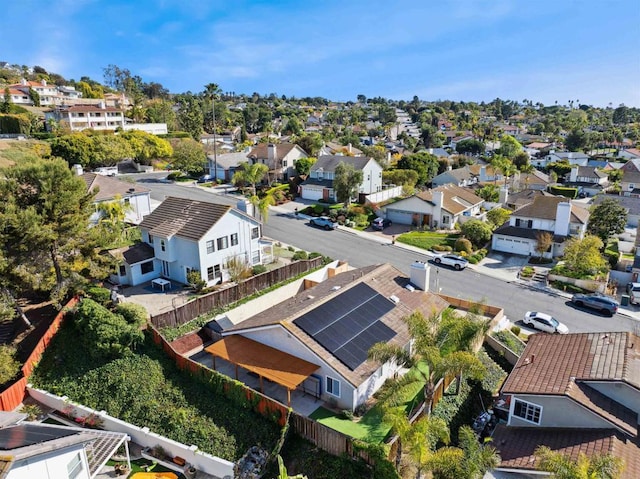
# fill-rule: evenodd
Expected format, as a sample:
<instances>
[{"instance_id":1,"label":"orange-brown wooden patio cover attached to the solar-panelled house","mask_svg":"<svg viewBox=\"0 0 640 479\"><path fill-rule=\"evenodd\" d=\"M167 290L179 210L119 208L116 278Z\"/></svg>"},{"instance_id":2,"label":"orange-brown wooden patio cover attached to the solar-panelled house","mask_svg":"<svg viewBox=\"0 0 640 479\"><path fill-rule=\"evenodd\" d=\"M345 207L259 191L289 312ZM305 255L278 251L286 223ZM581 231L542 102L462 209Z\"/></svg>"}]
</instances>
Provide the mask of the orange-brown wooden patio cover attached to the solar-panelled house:
<instances>
[{"instance_id":1,"label":"orange-brown wooden patio cover attached to the solar-panelled house","mask_svg":"<svg viewBox=\"0 0 640 479\"><path fill-rule=\"evenodd\" d=\"M279 351L239 334L227 336L205 348L220 357L260 377L294 390L320 366Z\"/></svg>"}]
</instances>

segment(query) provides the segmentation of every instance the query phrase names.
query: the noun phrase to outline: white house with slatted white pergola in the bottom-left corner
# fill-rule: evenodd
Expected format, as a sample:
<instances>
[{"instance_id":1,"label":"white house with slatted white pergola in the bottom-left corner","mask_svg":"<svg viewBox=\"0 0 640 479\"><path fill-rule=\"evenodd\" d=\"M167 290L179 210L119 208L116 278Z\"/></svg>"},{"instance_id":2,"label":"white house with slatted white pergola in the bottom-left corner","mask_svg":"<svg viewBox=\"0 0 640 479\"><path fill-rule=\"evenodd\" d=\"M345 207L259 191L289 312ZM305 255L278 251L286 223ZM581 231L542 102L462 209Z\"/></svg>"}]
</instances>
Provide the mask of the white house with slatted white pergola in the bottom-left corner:
<instances>
[{"instance_id":1,"label":"white house with slatted white pergola in the bottom-left corner","mask_svg":"<svg viewBox=\"0 0 640 479\"><path fill-rule=\"evenodd\" d=\"M23 422L25 416L0 412L3 479L92 479L129 440L124 433Z\"/></svg>"}]
</instances>

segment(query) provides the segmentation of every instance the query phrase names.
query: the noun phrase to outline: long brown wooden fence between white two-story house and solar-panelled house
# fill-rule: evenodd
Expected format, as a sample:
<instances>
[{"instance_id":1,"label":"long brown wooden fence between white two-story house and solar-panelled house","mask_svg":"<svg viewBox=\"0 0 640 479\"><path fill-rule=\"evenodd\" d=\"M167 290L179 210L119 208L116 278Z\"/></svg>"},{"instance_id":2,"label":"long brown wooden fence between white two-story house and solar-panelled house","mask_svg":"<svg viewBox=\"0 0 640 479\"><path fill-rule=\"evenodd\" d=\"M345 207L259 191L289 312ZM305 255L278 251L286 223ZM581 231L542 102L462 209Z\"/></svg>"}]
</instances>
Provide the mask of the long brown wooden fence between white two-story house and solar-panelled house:
<instances>
[{"instance_id":1,"label":"long brown wooden fence between white two-story house and solar-panelled house","mask_svg":"<svg viewBox=\"0 0 640 479\"><path fill-rule=\"evenodd\" d=\"M214 308L228 306L247 296L270 288L271 286L295 278L322 265L322 258L296 261L281 268L253 276L242 283L229 288L219 289L200 296L166 313L151 316L151 324L156 328L177 327L211 311Z\"/></svg>"}]
</instances>

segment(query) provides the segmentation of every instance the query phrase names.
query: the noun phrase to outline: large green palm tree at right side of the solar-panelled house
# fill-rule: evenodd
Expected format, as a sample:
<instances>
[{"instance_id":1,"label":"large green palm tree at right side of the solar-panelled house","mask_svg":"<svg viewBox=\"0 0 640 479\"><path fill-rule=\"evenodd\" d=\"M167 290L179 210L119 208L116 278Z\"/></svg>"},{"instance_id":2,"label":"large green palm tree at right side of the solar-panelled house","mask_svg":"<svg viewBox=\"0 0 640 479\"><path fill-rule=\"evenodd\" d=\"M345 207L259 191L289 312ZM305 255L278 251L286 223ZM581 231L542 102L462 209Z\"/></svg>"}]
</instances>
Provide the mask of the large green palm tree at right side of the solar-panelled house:
<instances>
[{"instance_id":1,"label":"large green palm tree at right side of the solar-panelled house","mask_svg":"<svg viewBox=\"0 0 640 479\"><path fill-rule=\"evenodd\" d=\"M392 343L376 343L369 350L369 358L383 363L393 360L411 370L387 383L378 397L383 404L398 406L409 391L422 384L427 414L430 414L435 384L440 378L456 374L459 388L463 374L473 378L484 375L484 366L470 349L486 330L487 323L478 321L473 314L458 317L449 309L441 316L434 313L425 318L416 311L403 319L414 340L412 351Z\"/></svg>"}]
</instances>

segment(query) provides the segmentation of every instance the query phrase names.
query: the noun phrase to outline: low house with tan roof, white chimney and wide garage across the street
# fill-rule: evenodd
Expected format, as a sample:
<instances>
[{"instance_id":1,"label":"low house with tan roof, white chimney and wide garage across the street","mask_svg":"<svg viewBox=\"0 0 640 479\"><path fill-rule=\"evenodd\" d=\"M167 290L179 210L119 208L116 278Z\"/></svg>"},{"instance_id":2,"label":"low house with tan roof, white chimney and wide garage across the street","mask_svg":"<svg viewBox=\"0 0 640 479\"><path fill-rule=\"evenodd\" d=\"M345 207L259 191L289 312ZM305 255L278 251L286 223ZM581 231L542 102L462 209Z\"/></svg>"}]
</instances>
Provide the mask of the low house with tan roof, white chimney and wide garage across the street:
<instances>
[{"instance_id":1,"label":"low house with tan roof, white chimney and wide garage across the street","mask_svg":"<svg viewBox=\"0 0 640 479\"><path fill-rule=\"evenodd\" d=\"M448 184L421 191L382 210L393 223L453 229L456 223L477 217L483 202L470 189Z\"/></svg>"}]
</instances>

